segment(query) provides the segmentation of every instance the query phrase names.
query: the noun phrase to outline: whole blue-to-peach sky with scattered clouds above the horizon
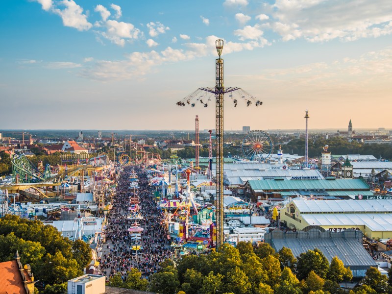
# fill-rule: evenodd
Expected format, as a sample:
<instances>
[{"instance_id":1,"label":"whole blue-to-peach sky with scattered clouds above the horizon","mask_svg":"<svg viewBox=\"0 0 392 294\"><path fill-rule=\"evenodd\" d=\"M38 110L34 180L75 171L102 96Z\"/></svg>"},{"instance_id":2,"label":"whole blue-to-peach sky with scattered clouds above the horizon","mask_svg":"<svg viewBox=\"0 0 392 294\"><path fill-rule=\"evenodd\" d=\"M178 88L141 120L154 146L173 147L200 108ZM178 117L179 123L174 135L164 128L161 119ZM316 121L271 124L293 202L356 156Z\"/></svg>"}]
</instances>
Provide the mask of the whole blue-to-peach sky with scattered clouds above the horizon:
<instances>
[{"instance_id":1,"label":"whole blue-to-peach sky with scattered clouds above the horizon","mask_svg":"<svg viewBox=\"0 0 392 294\"><path fill-rule=\"evenodd\" d=\"M2 129L392 128L391 0L1 0Z\"/></svg>"}]
</instances>

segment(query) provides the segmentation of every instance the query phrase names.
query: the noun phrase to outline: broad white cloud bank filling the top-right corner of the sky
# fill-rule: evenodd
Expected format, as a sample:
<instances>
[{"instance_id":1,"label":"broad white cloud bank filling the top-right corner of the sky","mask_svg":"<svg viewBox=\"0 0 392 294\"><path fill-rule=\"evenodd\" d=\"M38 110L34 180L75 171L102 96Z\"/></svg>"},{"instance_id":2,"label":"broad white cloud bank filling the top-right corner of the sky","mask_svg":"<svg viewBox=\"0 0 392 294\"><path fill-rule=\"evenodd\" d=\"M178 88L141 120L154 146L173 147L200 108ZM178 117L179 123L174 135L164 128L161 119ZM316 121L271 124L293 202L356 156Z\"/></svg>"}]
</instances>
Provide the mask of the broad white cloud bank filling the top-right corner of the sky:
<instances>
[{"instance_id":1,"label":"broad white cloud bank filling the top-right corner of the sky","mask_svg":"<svg viewBox=\"0 0 392 294\"><path fill-rule=\"evenodd\" d=\"M284 41L353 41L392 33L390 0L276 0L270 27Z\"/></svg>"}]
</instances>

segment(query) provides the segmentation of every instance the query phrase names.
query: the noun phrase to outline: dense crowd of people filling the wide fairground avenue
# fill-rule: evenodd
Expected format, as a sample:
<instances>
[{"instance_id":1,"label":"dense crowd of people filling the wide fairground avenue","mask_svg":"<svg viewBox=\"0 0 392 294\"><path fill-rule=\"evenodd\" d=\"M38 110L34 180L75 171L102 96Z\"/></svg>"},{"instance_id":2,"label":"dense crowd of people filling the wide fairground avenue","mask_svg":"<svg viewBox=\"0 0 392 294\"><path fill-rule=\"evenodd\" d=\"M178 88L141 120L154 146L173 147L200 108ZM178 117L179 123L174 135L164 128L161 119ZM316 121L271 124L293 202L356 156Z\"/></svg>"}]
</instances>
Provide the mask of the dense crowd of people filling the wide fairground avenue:
<instances>
[{"instance_id":1,"label":"dense crowd of people filling the wide fairground avenue","mask_svg":"<svg viewBox=\"0 0 392 294\"><path fill-rule=\"evenodd\" d=\"M130 187L135 174L138 188ZM100 259L101 272L107 278L120 272L125 281L126 272L131 268L140 270L142 276L148 278L159 270L162 261L172 258L170 241L166 238L168 233L165 231L164 215L157 208L152 190L143 169L127 166L120 173L116 196L112 199L112 209L107 216L106 248ZM135 196L138 201L135 203L132 200L131 203L130 198L135 199ZM143 228L139 233L141 239L132 239L128 231L135 225L135 216L142 217L137 220L137 225Z\"/></svg>"}]
</instances>

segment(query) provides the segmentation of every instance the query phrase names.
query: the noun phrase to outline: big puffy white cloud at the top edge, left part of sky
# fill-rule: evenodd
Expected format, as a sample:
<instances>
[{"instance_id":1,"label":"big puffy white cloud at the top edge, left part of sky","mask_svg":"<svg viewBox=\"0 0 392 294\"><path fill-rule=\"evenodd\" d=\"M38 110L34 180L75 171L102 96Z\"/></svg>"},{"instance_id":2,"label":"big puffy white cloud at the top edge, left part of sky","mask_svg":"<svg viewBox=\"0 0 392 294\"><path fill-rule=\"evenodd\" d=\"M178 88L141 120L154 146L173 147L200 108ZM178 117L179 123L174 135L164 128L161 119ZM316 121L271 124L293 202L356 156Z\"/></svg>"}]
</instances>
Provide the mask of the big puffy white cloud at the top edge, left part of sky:
<instances>
[{"instance_id":1,"label":"big puffy white cloud at the top edge, left part of sky","mask_svg":"<svg viewBox=\"0 0 392 294\"><path fill-rule=\"evenodd\" d=\"M62 0L60 4L66 8L56 8L53 12L61 16L65 26L74 27L79 31L89 30L93 26L87 21L87 15L83 14L83 8L73 0Z\"/></svg>"}]
</instances>

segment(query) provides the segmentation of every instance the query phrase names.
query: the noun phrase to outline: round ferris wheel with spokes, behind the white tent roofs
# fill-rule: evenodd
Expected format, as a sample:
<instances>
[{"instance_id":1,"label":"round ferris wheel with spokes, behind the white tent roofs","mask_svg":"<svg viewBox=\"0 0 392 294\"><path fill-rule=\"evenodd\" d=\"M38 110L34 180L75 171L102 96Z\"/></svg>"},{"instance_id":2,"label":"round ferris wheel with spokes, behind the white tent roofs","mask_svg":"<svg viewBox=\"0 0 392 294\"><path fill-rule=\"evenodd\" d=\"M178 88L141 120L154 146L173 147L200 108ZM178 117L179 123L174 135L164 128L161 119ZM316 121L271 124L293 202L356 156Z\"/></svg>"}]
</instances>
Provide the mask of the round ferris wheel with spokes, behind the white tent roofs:
<instances>
[{"instance_id":1,"label":"round ferris wheel with spokes, behind the white tent roofs","mask_svg":"<svg viewBox=\"0 0 392 294\"><path fill-rule=\"evenodd\" d=\"M242 152L249 160L265 161L272 154L273 144L270 136L254 130L246 134L242 141Z\"/></svg>"}]
</instances>

